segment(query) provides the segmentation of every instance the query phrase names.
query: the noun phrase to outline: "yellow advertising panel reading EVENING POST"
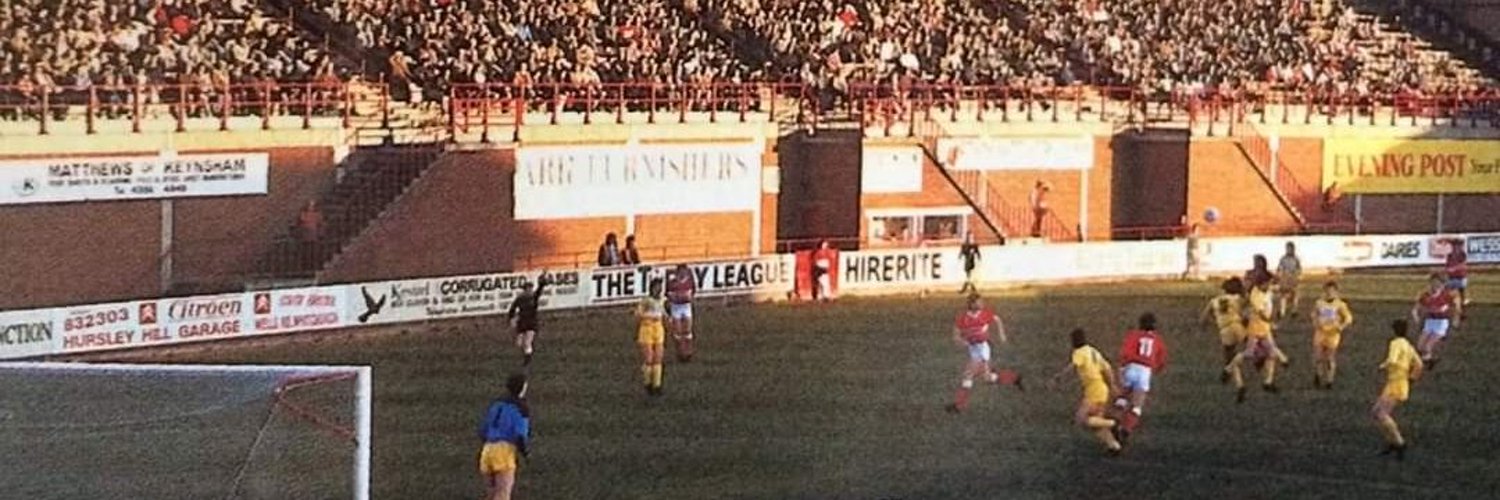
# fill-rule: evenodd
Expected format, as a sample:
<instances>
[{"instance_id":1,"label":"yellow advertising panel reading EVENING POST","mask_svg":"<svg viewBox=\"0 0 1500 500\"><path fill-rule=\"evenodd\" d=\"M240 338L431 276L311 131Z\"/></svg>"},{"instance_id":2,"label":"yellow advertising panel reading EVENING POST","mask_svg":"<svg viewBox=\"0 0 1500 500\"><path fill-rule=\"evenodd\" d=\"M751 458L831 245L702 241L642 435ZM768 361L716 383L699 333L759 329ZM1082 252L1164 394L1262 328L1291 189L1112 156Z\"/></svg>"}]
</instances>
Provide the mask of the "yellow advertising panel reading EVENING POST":
<instances>
[{"instance_id":1,"label":"yellow advertising panel reading EVENING POST","mask_svg":"<svg viewBox=\"0 0 1500 500\"><path fill-rule=\"evenodd\" d=\"M1328 140L1323 189L1344 194L1500 192L1500 141Z\"/></svg>"}]
</instances>

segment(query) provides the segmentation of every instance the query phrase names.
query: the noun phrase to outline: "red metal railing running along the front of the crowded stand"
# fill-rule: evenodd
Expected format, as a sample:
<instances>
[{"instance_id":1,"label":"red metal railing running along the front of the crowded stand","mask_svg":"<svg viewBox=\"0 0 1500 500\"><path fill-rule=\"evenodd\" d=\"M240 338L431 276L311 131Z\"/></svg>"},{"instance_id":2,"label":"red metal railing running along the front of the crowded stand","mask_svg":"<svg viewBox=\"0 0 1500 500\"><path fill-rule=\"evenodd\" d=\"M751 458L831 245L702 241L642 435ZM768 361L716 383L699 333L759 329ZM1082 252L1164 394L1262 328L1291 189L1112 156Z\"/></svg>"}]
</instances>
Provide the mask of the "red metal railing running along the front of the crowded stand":
<instances>
[{"instance_id":1,"label":"red metal railing running along the front of the crowded stand","mask_svg":"<svg viewBox=\"0 0 1500 500\"><path fill-rule=\"evenodd\" d=\"M378 92L372 101L357 95ZM378 99L378 101L374 101ZM0 86L0 122L34 123L50 134L57 122L80 120L86 134L100 122L126 122L141 132L147 120L172 120L176 131L234 128L236 117L260 117L261 129L273 117L340 119L345 128L357 116L378 116L390 125L392 108L384 83L234 83L48 87ZM690 120L801 123L844 117L866 129L918 122L1178 122L1206 126L1208 134L1233 134L1238 123L1304 123L1366 126L1500 128L1500 89L1436 95L1332 93L1284 90L1173 89L1095 86L957 86L867 84L844 89L778 83L594 83L594 84L453 84L441 113L450 138L508 131L519 138L528 120L555 125L580 123L686 123Z\"/></svg>"}]
</instances>

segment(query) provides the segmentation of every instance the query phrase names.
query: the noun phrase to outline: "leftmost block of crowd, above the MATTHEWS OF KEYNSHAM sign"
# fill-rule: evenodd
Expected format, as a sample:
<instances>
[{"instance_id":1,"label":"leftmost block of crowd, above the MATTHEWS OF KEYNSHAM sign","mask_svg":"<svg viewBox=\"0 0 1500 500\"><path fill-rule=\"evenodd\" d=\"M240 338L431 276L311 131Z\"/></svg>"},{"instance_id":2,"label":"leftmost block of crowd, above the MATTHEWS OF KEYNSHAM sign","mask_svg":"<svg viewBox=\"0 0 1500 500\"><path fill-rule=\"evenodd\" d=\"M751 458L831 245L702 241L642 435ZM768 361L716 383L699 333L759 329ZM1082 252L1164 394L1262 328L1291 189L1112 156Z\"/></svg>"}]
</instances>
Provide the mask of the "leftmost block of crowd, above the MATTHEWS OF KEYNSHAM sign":
<instances>
[{"instance_id":1,"label":"leftmost block of crowd, above the MATTHEWS OF KEYNSHAM sign","mask_svg":"<svg viewBox=\"0 0 1500 500\"><path fill-rule=\"evenodd\" d=\"M108 89L105 110L138 86L150 89L146 105L180 99L204 114L231 83L340 77L330 54L250 0L6 0L0 44L0 113L10 117L44 93L86 102L90 86ZM154 84L190 87L164 95Z\"/></svg>"}]
</instances>

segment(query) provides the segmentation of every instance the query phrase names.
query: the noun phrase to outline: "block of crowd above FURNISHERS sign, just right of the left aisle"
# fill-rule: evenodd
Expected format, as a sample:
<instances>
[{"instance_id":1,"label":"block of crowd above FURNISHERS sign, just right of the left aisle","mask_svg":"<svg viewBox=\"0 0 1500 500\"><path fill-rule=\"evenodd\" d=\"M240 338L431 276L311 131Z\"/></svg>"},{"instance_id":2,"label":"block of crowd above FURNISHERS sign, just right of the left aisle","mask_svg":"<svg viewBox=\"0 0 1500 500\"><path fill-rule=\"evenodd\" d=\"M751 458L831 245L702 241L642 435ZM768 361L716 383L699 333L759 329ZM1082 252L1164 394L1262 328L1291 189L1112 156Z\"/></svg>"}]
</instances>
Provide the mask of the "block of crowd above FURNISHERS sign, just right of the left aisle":
<instances>
[{"instance_id":1,"label":"block of crowd above FURNISHERS sign, just right of the left aisle","mask_svg":"<svg viewBox=\"0 0 1500 500\"><path fill-rule=\"evenodd\" d=\"M759 75L666 0L309 0L387 54L390 78L440 98L447 83L692 84Z\"/></svg>"}]
</instances>

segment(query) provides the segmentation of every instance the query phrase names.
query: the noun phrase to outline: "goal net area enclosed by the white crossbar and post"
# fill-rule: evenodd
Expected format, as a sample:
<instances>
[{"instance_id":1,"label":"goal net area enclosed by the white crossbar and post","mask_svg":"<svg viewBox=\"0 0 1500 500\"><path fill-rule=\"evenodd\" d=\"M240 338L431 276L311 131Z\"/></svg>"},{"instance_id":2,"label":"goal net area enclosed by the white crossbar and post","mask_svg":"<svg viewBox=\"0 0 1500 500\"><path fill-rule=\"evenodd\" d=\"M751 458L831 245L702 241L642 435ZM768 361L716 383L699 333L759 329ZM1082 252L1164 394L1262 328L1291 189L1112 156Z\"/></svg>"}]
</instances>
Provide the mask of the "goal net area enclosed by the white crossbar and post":
<instances>
[{"instance_id":1,"label":"goal net area enclosed by the white crossbar and post","mask_svg":"<svg viewBox=\"0 0 1500 500\"><path fill-rule=\"evenodd\" d=\"M369 498L368 366L0 363L0 495Z\"/></svg>"}]
</instances>

